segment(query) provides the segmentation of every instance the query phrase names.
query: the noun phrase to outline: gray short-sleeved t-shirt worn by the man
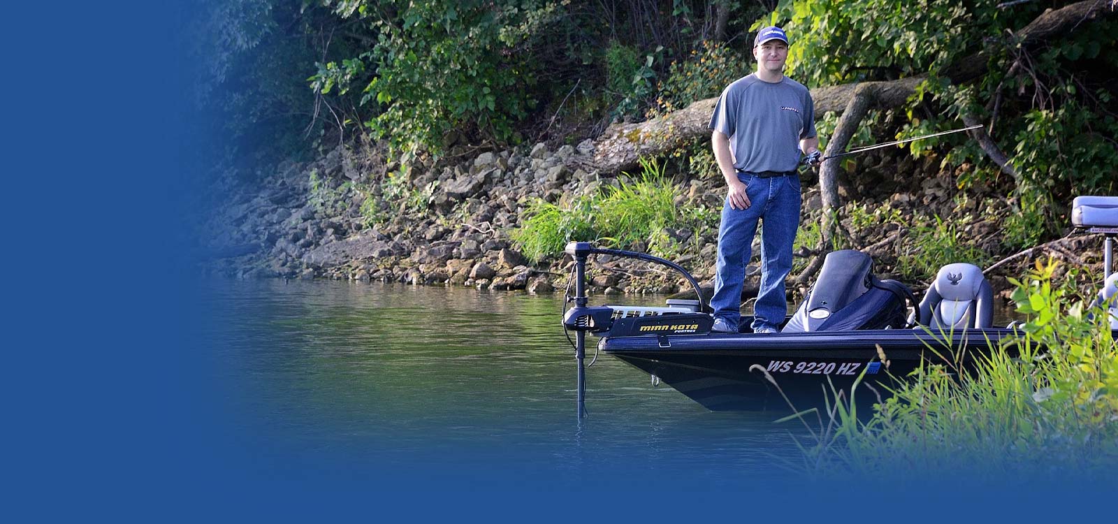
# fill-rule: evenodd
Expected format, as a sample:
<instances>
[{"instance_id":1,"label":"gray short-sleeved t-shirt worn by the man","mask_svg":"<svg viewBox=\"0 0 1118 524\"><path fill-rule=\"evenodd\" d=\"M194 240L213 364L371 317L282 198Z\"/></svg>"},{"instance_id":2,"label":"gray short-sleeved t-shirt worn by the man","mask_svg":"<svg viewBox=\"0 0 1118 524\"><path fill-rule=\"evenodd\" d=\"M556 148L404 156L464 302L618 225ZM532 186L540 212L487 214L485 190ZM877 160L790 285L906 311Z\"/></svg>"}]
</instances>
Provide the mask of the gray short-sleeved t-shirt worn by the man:
<instances>
[{"instance_id":1,"label":"gray short-sleeved t-shirt worn by the man","mask_svg":"<svg viewBox=\"0 0 1118 524\"><path fill-rule=\"evenodd\" d=\"M730 137L738 171L795 171L799 141L815 136L815 104L798 82L754 74L722 90L709 127Z\"/></svg>"}]
</instances>

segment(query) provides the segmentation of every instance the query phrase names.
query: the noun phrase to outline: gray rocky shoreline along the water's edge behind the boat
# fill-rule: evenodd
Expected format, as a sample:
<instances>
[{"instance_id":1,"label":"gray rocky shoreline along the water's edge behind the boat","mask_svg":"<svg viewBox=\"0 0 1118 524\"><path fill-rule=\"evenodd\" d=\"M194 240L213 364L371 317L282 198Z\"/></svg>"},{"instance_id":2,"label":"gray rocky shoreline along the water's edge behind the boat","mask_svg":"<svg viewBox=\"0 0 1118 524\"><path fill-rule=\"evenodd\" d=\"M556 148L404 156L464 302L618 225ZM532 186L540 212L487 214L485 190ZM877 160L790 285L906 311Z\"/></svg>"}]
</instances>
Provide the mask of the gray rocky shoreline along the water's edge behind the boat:
<instances>
[{"instance_id":1,"label":"gray rocky shoreline along the water's edge behind the boat","mask_svg":"<svg viewBox=\"0 0 1118 524\"><path fill-rule=\"evenodd\" d=\"M587 169L593 147L591 141L584 141L552 151L539 143L438 162L420 159L401 169L386 160L383 144L360 141L340 145L313 162L285 162L255 184L238 183L227 175L210 188L208 207L214 212L198 220L196 259L202 273L236 278L331 278L551 292L566 282L569 258L533 264L517 249L510 234L521 223L533 198L570 201L628 180L624 173ZM983 202L998 197L991 190L967 196L960 204L957 173L941 171L938 159L865 154L847 173L840 180L840 192L847 201L889 202L899 210L950 217L963 235L987 253L997 253L996 219L977 217L983 215ZM685 188L676 197L681 208L719 209L724 197L720 179L678 173L673 183ZM817 221L817 184L805 177L803 185L804 223ZM688 268L704 287L713 277L717 237L714 228L708 229L664 231L678 241L680 256L673 261ZM887 225L869 232L851 229L858 231L850 239L854 247L869 248L875 259L884 260L879 260L879 273L896 277L889 261L903 256L894 246L900 244L898 227ZM811 255L797 253L800 263ZM671 294L688 288L679 275L646 263L601 256L595 261L590 275L595 293ZM1020 275L1021 267L1012 266L1004 275ZM750 270L757 273L755 266ZM993 275L992 283L1006 294L1005 276ZM803 290L789 286L790 295Z\"/></svg>"}]
</instances>

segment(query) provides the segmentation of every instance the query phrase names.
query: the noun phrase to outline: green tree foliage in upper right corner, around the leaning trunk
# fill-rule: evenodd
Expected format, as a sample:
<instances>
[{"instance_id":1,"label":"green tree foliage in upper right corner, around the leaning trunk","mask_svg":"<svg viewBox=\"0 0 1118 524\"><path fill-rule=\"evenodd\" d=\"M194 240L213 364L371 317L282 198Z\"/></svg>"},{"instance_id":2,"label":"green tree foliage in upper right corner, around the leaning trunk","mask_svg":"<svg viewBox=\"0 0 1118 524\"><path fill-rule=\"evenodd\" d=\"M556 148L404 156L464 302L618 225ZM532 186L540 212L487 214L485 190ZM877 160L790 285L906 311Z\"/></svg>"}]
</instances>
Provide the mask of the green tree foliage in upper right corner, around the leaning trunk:
<instances>
[{"instance_id":1,"label":"green tree foliage in upper right corner, around the leaning trunk","mask_svg":"<svg viewBox=\"0 0 1118 524\"><path fill-rule=\"evenodd\" d=\"M1012 36L1044 9L1071 1L997 8L995 2L925 0L784 1L755 23L785 23L794 36L788 65L809 86L888 80L928 74L904 107L898 137L959 127L961 114L989 124L1017 173L1006 245L1027 246L1067 223L1063 206L1077 194L1118 190L1118 23L1105 18L1067 37L1023 49ZM953 84L945 68L983 51L985 76ZM917 141L915 155L948 150L945 163L975 163L959 185L1004 177L961 135Z\"/></svg>"}]
</instances>

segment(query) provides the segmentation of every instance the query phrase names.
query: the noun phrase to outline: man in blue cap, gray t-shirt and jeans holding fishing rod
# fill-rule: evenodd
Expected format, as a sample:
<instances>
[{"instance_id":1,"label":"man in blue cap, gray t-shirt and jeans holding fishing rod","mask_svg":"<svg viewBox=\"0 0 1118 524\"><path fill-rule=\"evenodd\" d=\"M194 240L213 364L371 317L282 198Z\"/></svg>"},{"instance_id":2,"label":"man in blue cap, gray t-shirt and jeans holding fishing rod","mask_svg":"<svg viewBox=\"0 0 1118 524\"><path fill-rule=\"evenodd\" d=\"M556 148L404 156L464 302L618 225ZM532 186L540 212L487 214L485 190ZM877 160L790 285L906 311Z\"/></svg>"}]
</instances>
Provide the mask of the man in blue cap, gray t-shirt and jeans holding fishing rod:
<instances>
[{"instance_id":1,"label":"man in blue cap, gray t-shirt and jeans holding fishing rod","mask_svg":"<svg viewBox=\"0 0 1118 524\"><path fill-rule=\"evenodd\" d=\"M714 331L738 332L741 288L761 223L761 283L752 331L776 333L788 311L784 280L799 228L800 154L817 164L815 104L803 84L784 76L788 37L767 27L754 39L757 72L722 90L710 120L711 145L728 185L718 231Z\"/></svg>"}]
</instances>

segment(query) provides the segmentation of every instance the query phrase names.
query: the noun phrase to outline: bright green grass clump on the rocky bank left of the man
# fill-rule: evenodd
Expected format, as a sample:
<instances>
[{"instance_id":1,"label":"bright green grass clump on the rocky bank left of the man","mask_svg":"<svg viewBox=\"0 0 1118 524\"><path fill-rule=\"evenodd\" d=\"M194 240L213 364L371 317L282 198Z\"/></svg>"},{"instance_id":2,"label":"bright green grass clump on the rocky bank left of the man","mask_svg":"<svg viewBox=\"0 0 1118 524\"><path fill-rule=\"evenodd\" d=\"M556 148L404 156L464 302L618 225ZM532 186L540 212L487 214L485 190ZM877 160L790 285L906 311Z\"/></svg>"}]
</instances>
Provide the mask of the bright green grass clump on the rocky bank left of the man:
<instances>
[{"instance_id":1,"label":"bright green grass clump on the rocky bank left of the man","mask_svg":"<svg viewBox=\"0 0 1118 524\"><path fill-rule=\"evenodd\" d=\"M655 160L641 161L635 182L576 198L565 203L533 201L512 239L534 261L559 255L570 240L594 240L628 248L636 242L663 245L660 232L678 227L675 188Z\"/></svg>"}]
</instances>

